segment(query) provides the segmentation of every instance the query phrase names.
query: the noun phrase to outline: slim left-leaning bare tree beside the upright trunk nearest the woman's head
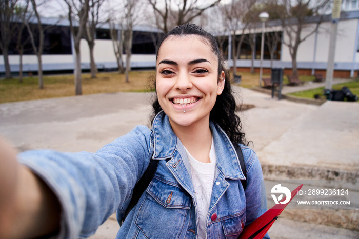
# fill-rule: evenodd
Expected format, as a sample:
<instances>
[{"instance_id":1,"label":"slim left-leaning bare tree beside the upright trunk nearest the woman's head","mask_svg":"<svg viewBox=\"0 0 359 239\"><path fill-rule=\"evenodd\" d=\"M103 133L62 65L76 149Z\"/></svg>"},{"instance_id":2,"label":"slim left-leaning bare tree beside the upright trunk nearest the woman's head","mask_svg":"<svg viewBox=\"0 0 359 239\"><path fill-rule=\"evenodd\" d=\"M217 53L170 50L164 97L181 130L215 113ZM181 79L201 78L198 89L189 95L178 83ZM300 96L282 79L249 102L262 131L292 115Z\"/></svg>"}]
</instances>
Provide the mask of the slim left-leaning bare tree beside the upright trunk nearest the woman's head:
<instances>
[{"instance_id":1,"label":"slim left-leaning bare tree beside the upright trunk nearest the woman's head","mask_svg":"<svg viewBox=\"0 0 359 239\"><path fill-rule=\"evenodd\" d=\"M108 23L110 25L110 36L111 36L113 51L116 56L118 73L123 74L125 73L124 61L122 59L124 52L124 43L123 43L124 31L122 31L121 29L118 30L116 29L116 24L114 23L113 19L109 19Z\"/></svg>"}]
</instances>

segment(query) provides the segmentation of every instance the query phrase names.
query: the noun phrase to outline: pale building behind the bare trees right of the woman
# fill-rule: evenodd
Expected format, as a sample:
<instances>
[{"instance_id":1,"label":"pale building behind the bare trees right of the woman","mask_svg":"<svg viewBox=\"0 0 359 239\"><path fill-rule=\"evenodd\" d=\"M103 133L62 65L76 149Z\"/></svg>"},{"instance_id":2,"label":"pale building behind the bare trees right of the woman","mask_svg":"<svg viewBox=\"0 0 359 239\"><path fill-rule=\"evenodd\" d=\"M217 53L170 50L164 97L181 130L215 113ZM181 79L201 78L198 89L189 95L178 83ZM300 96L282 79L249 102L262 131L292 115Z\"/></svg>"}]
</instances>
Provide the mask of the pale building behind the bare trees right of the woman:
<instances>
[{"instance_id":1,"label":"pale building behind the bare trees right of the woman","mask_svg":"<svg viewBox=\"0 0 359 239\"><path fill-rule=\"evenodd\" d=\"M311 17L303 36L315 29L320 17ZM244 43L241 50L241 56L236 61L237 71L249 71L251 67L252 54L254 55L254 68L259 72L260 52L261 52L261 25L251 30L256 34L255 50L252 52L248 44ZM327 69L329 39L331 31L331 15L325 15L322 18L318 30L302 42L297 52L297 68L300 75L312 75L322 73L325 75ZM238 31L241 32L241 31ZM288 35L283 31L279 21L269 21L266 23L265 32L277 32L282 37L282 42L278 44L274 54L273 68L283 68L284 74L290 74L292 68L292 58L289 48L283 43L288 40ZM245 31L249 34L249 30ZM266 36L267 37L267 36ZM233 66L233 60L230 52L231 39L225 46L225 55L228 55L228 65ZM265 42L268 39L265 38ZM338 33L336 38L335 59L334 59L334 77L354 77L359 72L359 11L343 11L338 23ZM229 49L229 51L228 51ZM264 48L263 72L270 73L270 54L267 44Z\"/></svg>"}]
</instances>

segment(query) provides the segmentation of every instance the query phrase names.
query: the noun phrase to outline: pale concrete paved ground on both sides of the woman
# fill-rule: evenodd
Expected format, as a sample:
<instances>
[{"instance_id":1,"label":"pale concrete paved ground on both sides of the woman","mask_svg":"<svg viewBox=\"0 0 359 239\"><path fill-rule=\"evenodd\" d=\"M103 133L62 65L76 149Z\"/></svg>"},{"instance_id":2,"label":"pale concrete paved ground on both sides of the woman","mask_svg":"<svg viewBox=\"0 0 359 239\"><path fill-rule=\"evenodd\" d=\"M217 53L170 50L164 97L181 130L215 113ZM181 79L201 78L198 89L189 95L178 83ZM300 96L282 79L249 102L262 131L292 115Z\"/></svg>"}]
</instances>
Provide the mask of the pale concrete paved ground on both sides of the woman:
<instances>
[{"instance_id":1,"label":"pale concrete paved ground on both sides of the woman","mask_svg":"<svg viewBox=\"0 0 359 239\"><path fill-rule=\"evenodd\" d=\"M244 104L255 106L241 113L241 120L262 165L340 169L349 174L359 171L358 103L314 106L278 101L248 89L235 90ZM94 152L136 125L148 124L150 94L96 94L0 104L0 135L21 151ZM117 222L110 218L92 238L114 238L117 230ZM358 231L285 218L270 232L272 238L359 238Z\"/></svg>"}]
</instances>

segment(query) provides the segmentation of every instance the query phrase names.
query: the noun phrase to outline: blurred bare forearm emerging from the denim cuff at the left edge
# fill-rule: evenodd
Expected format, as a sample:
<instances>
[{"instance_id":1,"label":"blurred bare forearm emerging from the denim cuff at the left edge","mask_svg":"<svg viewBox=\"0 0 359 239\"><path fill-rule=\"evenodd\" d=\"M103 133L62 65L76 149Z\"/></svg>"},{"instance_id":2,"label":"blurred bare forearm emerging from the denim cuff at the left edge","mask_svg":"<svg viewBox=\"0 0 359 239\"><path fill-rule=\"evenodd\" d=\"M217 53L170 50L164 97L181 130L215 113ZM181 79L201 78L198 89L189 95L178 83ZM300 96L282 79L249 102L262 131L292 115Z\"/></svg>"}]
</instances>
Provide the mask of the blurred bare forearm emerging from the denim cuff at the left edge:
<instances>
[{"instance_id":1,"label":"blurred bare forearm emerging from the denim cuff at the left edge","mask_svg":"<svg viewBox=\"0 0 359 239\"><path fill-rule=\"evenodd\" d=\"M0 238L38 237L59 228L60 205L50 188L16 160L0 139Z\"/></svg>"}]
</instances>

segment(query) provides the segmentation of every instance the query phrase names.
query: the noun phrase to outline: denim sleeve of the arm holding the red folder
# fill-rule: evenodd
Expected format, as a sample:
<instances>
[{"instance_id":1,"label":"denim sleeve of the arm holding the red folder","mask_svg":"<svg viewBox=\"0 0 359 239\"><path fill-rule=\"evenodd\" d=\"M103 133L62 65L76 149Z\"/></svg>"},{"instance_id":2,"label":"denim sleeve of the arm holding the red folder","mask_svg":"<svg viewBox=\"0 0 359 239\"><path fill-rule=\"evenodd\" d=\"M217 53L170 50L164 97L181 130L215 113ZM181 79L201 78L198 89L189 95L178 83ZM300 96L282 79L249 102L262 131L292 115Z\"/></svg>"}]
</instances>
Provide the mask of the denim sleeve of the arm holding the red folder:
<instances>
[{"instance_id":1,"label":"denim sleeve of the arm holding the red folder","mask_svg":"<svg viewBox=\"0 0 359 239\"><path fill-rule=\"evenodd\" d=\"M267 211L266 189L263 173L256 153L248 148L242 148L247 170L246 194L246 226ZM264 237L269 239L268 233Z\"/></svg>"}]
</instances>

